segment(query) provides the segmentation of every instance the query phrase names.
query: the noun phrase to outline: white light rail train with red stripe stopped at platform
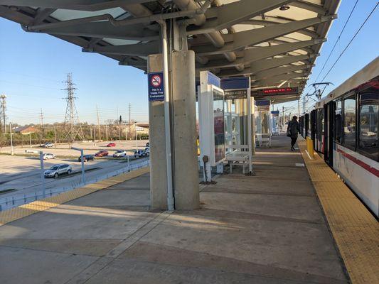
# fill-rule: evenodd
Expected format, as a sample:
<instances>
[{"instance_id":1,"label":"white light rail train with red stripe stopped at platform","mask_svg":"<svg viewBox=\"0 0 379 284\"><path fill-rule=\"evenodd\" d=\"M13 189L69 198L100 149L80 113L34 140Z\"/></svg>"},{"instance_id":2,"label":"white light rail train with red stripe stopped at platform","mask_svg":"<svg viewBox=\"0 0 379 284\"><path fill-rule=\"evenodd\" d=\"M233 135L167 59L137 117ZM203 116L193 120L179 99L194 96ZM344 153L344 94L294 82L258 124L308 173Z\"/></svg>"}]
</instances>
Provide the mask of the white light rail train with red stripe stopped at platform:
<instances>
[{"instance_id":1,"label":"white light rail train with red stripe stopped at platform","mask_svg":"<svg viewBox=\"0 0 379 284\"><path fill-rule=\"evenodd\" d=\"M378 218L379 58L300 117L301 135Z\"/></svg>"}]
</instances>

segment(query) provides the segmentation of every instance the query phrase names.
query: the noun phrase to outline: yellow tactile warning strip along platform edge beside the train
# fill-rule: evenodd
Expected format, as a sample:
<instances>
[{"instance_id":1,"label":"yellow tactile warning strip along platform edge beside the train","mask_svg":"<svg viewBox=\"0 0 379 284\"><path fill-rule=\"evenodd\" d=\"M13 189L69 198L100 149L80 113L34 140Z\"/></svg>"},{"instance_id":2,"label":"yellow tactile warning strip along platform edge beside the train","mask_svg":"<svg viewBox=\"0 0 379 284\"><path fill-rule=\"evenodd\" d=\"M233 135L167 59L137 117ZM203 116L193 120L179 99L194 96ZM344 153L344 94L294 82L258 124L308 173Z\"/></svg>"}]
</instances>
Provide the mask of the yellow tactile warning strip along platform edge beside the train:
<instances>
[{"instance_id":1,"label":"yellow tactile warning strip along platform edge beside the train","mask_svg":"<svg viewBox=\"0 0 379 284\"><path fill-rule=\"evenodd\" d=\"M353 284L379 283L379 224L319 155L310 160L299 142L331 233Z\"/></svg>"}]
</instances>

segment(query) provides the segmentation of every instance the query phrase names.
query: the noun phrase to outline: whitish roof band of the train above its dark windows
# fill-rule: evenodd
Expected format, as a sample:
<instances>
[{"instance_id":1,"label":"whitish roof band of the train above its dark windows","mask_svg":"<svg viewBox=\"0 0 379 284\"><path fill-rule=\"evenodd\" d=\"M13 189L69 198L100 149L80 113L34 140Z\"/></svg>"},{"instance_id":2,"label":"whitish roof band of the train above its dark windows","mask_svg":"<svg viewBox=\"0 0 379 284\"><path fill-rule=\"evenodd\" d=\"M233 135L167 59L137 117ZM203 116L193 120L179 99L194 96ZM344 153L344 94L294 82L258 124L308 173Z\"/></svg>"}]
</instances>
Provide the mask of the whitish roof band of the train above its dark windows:
<instances>
[{"instance_id":1,"label":"whitish roof band of the train above its dark windows","mask_svg":"<svg viewBox=\"0 0 379 284\"><path fill-rule=\"evenodd\" d=\"M365 65L365 67L356 72L356 74L336 87L336 89L333 89L333 91L331 91L326 97L322 98L320 102L317 102L314 107L316 109L322 107L324 104L330 102L331 100L337 99L347 92L351 92L351 90L358 88L362 84L365 84L366 82L369 82L378 76L379 57L368 63L368 65Z\"/></svg>"}]
</instances>

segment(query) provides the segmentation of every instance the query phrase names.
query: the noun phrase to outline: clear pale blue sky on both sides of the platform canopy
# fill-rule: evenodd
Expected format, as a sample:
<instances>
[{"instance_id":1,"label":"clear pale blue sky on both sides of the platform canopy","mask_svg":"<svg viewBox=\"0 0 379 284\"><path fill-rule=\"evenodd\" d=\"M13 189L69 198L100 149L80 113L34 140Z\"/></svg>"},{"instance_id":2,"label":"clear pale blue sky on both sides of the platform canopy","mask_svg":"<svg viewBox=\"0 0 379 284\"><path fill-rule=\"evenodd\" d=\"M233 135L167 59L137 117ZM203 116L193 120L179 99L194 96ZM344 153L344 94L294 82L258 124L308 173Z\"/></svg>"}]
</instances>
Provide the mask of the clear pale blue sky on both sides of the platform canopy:
<instances>
[{"instance_id":1,"label":"clear pale blue sky on both sides of the platform canopy","mask_svg":"<svg viewBox=\"0 0 379 284\"><path fill-rule=\"evenodd\" d=\"M328 41L321 48L321 56L308 80L316 77L328 58L343 25L356 0L343 0L336 19L329 31ZM341 35L331 58L319 76L324 77L341 51L351 40L361 23L377 1L358 1L345 31ZM324 81L332 82L324 94L338 87L354 73L361 70L378 56L378 8L370 17L353 43L343 54ZM147 122L148 99L146 75L129 66L119 66L116 60L95 53L82 53L77 45L41 33L26 33L17 23L0 18L0 94L7 96L8 122L39 124L41 109L43 121L53 123L65 118L66 96L64 81L68 72L73 73L76 107L80 121L97 123L107 119L129 119L131 104L132 119ZM306 92L312 92L307 87ZM309 101L311 106L312 101ZM278 104L274 109L297 113L297 102Z\"/></svg>"}]
</instances>

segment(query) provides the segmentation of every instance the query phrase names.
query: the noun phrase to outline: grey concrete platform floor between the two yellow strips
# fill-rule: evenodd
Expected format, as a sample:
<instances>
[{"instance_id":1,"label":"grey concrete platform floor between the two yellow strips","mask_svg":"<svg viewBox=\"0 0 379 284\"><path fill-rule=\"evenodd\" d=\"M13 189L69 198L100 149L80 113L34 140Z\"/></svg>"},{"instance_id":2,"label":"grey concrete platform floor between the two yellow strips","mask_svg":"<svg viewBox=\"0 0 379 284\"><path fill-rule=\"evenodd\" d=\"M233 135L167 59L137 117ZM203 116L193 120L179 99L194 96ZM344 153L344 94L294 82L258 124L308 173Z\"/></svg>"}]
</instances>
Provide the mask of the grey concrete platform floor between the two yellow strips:
<instances>
[{"instance_id":1,"label":"grey concrete platform floor between the two yellow strips","mask_svg":"<svg viewBox=\"0 0 379 284\"><path fill-rule=\"evenodd\" d=\"M142 175L0 226L0 283L348 283L288 140L257 151L256 176L201 187L195 211L149 211Z\"/></svg>"}]
</instances>

